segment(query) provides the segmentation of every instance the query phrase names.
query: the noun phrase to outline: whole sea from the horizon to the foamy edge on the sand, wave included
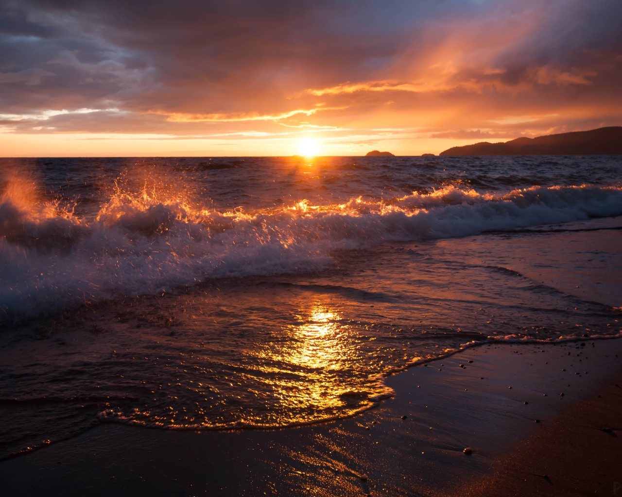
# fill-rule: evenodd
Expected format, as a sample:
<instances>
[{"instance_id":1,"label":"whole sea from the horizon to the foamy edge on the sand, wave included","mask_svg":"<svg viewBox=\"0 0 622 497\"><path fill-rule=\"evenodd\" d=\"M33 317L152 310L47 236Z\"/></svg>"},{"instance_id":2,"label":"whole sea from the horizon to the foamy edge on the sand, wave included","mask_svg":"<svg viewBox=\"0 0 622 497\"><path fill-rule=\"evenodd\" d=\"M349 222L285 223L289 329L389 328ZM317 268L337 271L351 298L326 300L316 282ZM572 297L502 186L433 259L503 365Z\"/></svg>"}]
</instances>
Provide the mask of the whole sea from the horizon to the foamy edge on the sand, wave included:
<instances>
[{"instance_id":1,"label":"whole sea from the horizon to the foamy edge on the sand, wave included","mask_svg":"<svg viewBox=\"0 0 622 497\"><path fill-rule=\"evenodd\" d=\"M622 157L0 162L0 458L353 416L391 372L622 334Z\"/></svg>"}]
</instances>

